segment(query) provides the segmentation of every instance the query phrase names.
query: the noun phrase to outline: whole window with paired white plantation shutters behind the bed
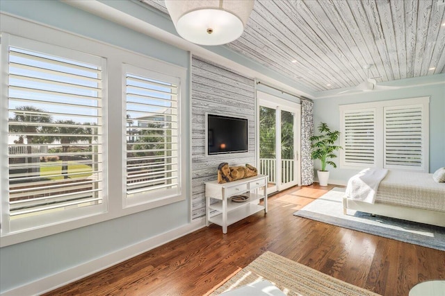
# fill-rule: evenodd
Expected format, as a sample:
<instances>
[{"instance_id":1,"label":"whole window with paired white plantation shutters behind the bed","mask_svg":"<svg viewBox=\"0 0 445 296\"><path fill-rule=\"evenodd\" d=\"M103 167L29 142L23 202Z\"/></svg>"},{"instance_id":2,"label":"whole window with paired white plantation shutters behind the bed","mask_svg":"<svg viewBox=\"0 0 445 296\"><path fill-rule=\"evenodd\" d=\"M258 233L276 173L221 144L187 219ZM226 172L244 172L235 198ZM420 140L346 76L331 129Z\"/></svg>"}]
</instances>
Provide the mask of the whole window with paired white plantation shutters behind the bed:
<instances>
[{"instance_id":1,"label":"whole window with paired white plantation shutters behind the bed","mask_svg":"<svg viewBox=\"0 0 445 296\"><path fill-rule=\"evenodd\" d=\"M429 97L340 106L341 166L428 173Z\"/></svg>"}]
</instances>

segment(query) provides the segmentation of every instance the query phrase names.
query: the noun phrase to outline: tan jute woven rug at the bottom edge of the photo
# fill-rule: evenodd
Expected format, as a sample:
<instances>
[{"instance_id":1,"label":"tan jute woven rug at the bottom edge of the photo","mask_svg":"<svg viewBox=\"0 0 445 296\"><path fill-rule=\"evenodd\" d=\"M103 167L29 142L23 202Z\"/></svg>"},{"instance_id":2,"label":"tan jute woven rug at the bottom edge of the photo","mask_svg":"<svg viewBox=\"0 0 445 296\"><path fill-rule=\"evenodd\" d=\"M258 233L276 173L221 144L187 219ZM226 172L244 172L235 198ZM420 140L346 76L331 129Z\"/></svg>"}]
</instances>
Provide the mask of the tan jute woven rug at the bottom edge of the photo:
<instances>
[{"instance_id":1,"label":"tan jute woven rug at the bottom edge of the photo","mask_svg":"<svg viewBox=\"0 0 445 296\"><path fill-rule=\"evenodd\" d=\"M211 295L219 295L243 285L267 279L288 296L311 295L378 295L353 286L323 272L302 265L273 252L266 252L240 270L216 289Z\"/></svg>"}]
</instances>

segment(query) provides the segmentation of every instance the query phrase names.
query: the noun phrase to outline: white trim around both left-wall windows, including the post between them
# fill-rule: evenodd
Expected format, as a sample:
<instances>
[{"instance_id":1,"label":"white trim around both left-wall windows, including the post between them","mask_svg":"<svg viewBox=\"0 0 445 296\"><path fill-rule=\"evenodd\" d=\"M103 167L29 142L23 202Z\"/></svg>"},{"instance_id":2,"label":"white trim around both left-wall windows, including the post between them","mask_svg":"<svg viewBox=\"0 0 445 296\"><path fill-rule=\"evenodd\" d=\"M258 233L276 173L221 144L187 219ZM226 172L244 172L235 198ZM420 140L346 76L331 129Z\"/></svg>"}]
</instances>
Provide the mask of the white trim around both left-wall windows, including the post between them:
<instances>
[{"instance_id":1,"label":"white trim around both left-wall windows, including the post between them","mask_svg":"<svg viewBox=\"0 0 445 296\"><path fill-rule=\"evenodd\" d=\"M8 19L9 20L9 19ZM2 20L3 21L3 20ZM11 23L14 23L11 21ZM10 23L7 23L10 27ZM22 24L22 22L20 22ZM28 28L28 23L24 22L24 28ZM14 26L13 26L14 27ZM104 180L110 180L104 189L105 197L108 198L108 207L106 211L100 214L92 214L85 216L83 218L74 218L61 223L51 223L48 225L42 225L41 227L34 227L32 229L25 229L20 232L9 232L3 231L4 225L1 225L1 239L0 247L13 245L15 243L22 243L24 241L30 241L35 238L41 238L44 236L49 236L51 234L57 234L60 232L66 232L68 230L76 229L79 227L85 227L88 225L94 225L106 220L111 220L114 218L120 218L130 214L136 214L140 211L146 211L148 209L154 209L156 207L161 207L166 204L172 204L181 200L186 200L187 196L190 196L191 188L188 186L187 178L190 178L191 173L186 169L186 162L189 153L189 147L186 147L185 141L188 138L187 133L190 125L187 121L187 116L184 115L188 111L188 92L187 92L187 81L188 81L188 69L186 67L181 67L177 64L172 64L170 62L164 62L162 60L156 60L147 55L130 51L128 49L122 49L118 46L100 42L98 40L92 40L90 38L82 37L72 33L67 33L60 31L55 28L49 28L47 26L39 26L35 24L29 24L29 29L22 30L11 30L10 33L4 31L1 32L1 47L0 47L0 62L2 63L2 71L0 73L0 82L2 83L1 93L0 93L0 146L6 147L8 145L8 100L3 99L8 97L8 87L4 87L8 83L8 75L3 70L6 67L3 65L8 65L8 50L6 44L8 44L8 39L10 37L20 37L25 40L30 40L31 42L40 42L42 44L50 44L51 46L58 46L60 49L67 49L73 51L79 51L85 53L86 55L96 55L106 60L106 69L108 69L108 76L104 78L106 82L106 87L103 89L103 112L104 112L104 143L103 147L106 150L106 159L104 159ZM55 42L54 40L57 40ZM6 50L5 50L6 49ZM29 48L33 51L35 49ZM63 55L60 55L62 56ZM121 182L114 182L113 180L122 180L122 164L118 160L122 159L122 150L124 141L122 141L122 133L124 129L122 128L122 122L125 117L124 108L122 107L122 93L125 89L122 89L122 65L123 64L137 64L140 67L146 69L153 69L154 71L159 71L159 73L166 73L178 77L181 81L180 94L182 97L180 104L180 137L181 137L181 194L175 196L175 198L153 200L152 202L143 202L140 204L133 204L131 207L124 207L122 201L122 194L124 193L124 188ZM6 74L6 75L5 75ZM5 84L6 81L6 84ZM110 120L108 120L108 118ZM122 118L122 121L115 120ZM6 145L6 146L5 146ZM4 183L5 177L8 175L8 149L0 149L0 194L1 196L8 196L8 184ZM7 186L3 186L3 185ZM8 200L6 198L1 199L1 211L0 220L3 215L4 209L7 209ZM189 207L184 207L184 211L189 212Z\"/></svg>"}]
</instances>

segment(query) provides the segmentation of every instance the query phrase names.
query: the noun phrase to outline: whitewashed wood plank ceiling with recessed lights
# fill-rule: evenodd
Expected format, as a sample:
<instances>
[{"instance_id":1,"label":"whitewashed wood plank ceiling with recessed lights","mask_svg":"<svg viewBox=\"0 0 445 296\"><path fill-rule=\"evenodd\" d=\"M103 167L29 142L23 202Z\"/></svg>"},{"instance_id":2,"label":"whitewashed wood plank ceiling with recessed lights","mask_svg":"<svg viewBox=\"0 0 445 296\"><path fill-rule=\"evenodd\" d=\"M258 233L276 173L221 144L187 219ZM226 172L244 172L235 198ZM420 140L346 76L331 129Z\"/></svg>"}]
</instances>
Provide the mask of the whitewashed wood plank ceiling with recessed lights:
<instances>
[{"instance_id":1,"label":"whitewashed wood plank ceiling with recessed lights","mask_svg":"<svg viewBox=\"0 0 445 296\"><path fill-rule=\"evenodd\" d=\"M140 0L168 14L163 1ZM256 0L230 49L313 92L445 73L444 0Z\"/></svg>"}]
</instances>

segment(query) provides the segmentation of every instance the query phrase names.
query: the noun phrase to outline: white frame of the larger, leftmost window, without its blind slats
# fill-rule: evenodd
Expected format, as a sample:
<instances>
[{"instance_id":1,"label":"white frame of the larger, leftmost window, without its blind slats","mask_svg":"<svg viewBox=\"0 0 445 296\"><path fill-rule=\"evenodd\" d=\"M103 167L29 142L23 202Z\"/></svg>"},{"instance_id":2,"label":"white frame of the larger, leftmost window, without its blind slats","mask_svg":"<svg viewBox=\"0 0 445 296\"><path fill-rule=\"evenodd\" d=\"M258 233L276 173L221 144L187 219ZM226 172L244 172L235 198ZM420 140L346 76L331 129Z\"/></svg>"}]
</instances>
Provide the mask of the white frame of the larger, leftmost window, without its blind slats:
<instances>
[{"instance_id":1,"label":"white frame of the larger, leftmost window, without its blind slats","mask_svg":"<svg viewBox=\"0 0 445 296\"><path fill-rule=\"evenodd\" d=\"M4 39L3 39L4 38ZM57 46L55 44L44 44L42 42L38 42L35 40L29 40L23 37L18 37L15 35L9 35L6 33L2 33L2 43L1 43L1 52L2 53L6 53L4 55L2 55L2 62L6 62L6 60L8 61L8 64L6 67L4 67L3 69L3 73L2 73L2 77L1 77L1 83L3 85L3 89L5 89L5 92L3 94L1 94L1 98L2 98L2 102L5 102L5 105L2 105L2 115L5 114L6 118L5 121L3 121L3 123L5 124L5 127L3 128L5 130L5 134L6 134L6 139L2 139L2 146L8 146L8 137L9 137L9 116L8 116L8 109L9 109L9 93L8 93L8 88L10 86L10 65L9 65L9 60L10 60L10 51L9 49L15 48L15 49L24 49L26 51L30 51L32 53L43 53L44 55L49 55L49 56L58 56L60 58L64 58L67 60L72 60L72 61L76 61L76 62L84 62L84 63L88 63L88 64L95 64L98 67L101 68L101 85L102 85L102 90L101 90L101 98L99 99L98 103L100 105L99 107L99 114L102 114L102 99L106 98L106 89L107 89L107 85L106 85L106 76L107 76L107 71L106 71L106 60L102 57L96 56L96 55L88 55L86 53L82 53L79 51L75 51L73 49L66 49L60 46ZM3 58L5 58L5 60L3 60ZM5 99L3 99L5 98ZM12 99L13 101L15 101L15 99ZM3 108L6 108L3 109ZM3 111L4 110L4 111ZM97 118L101 117L101 115L97 115ZM102 117L101 119L101 125L99 126L99 130L104 130L106 127L106 118ZM56 126L56 123L54 124L54 126ZM99 132L100 134L101 132ZM102 144L104 143L104 139L106 138L106 134L102 134L99 135L98 138L100 139L100 145L102 146ZM30 145L30 144L27 144ZM38 145L38 144L36 144ZM9 149L7 149L8 151ZM99 153L98 157L100 157L101 159L106 159L107 155L106 155L106 149L101 149L101 153ZM8 153L9 154L9 153ZM5 159L8 159L8 154L6 155ZM3 155L2 155L2 159L3 159ZM6 166L9 170L9 162L8 160L5 161L6 162ZM102 164L100 165L100 167L102 168ZM8 176L8 178L10 177L10 173L6 173L6 175ZM51 214L42 214L42 215L36 215L36 216L29 216L29 217L24 217L24 218L17 218L14 219L10 216L10 204L9 202L6 201L6 199L9 200L10 198L10 192L9 192L9 187L10 184L8 182L8 179L6 177L3 177L2 175L2 179L1 179L1 186L2 188L6 189L6 193L3 192L1 193L2 196L2 204L1 204L1 234L3 235L3 233L5 234L14 234L17 232L23 232L23 231L28 231L29 229L33 229L35 227L45 227L46 225L51 225L51 224L58 224L58 223L65 223L68 220L73 220L73 219L81 219L83 217L86 216L95 216L95 215L99 215L104 213L104 211L106 211L107 207L108 207L108 200L106 198L106 188L107 188L107 180L104 177L103 173L100 173L99 175L101 175L102 177L97 181L98 183L102 182L102 186L100 186L100 191L99 191L99 196L100 196L100 200L102 201L101 204L96 204L96 205L92 205L89 207L85 207L85 208L77 208L77 209L63 209L63 211L56 211L54 213ZM43 184L41 184L43 185Z\"/></svg>"}]
</instances>

